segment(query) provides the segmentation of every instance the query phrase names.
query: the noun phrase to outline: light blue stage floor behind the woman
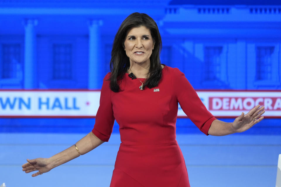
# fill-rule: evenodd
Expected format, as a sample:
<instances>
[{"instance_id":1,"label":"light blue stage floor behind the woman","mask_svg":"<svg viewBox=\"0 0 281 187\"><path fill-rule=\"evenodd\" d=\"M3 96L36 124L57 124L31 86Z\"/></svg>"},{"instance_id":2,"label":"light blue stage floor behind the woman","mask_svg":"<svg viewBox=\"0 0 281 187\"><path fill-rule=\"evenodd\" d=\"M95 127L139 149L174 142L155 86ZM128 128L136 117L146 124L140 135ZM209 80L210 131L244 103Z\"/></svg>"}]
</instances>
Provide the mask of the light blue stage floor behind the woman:
<instances>
[{"instance_id":1,"label":"light blue stage floor behind the woman","mask_svg":"<svg viewBox=\"0 0 281 187\"><path fill-rule=\"evenodd\" d=\"M119 148L119 134L109 142L48 173L31 177L22 171L26 159L50 157L85 134L0 134L0 185L7 187L108 187ZM222 137L179 134L191 187L275 186L281 135Z\"/></svg>"}]
</instances>

